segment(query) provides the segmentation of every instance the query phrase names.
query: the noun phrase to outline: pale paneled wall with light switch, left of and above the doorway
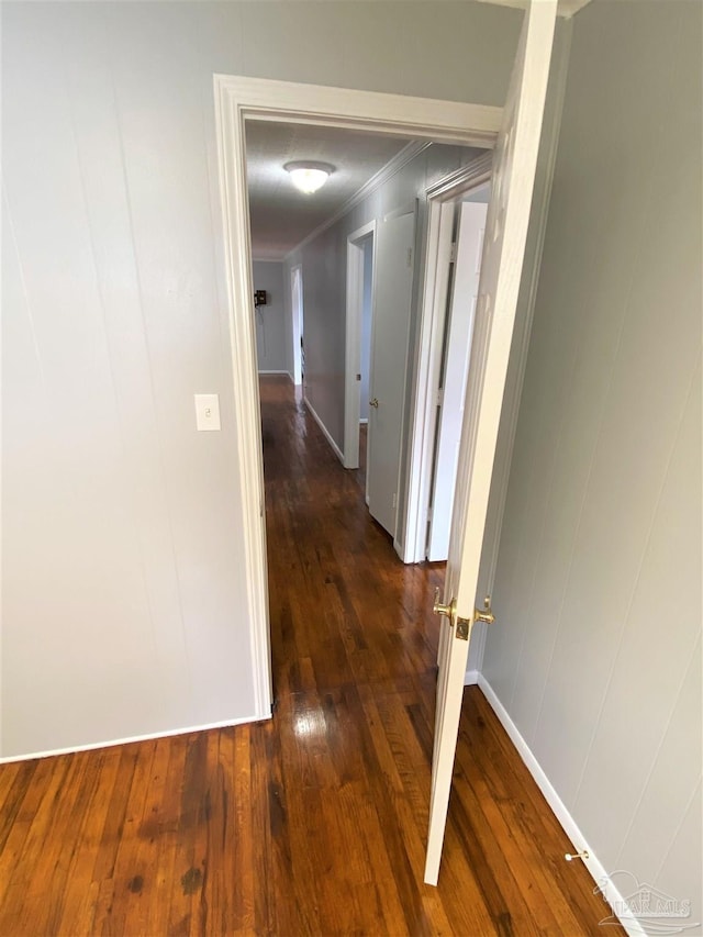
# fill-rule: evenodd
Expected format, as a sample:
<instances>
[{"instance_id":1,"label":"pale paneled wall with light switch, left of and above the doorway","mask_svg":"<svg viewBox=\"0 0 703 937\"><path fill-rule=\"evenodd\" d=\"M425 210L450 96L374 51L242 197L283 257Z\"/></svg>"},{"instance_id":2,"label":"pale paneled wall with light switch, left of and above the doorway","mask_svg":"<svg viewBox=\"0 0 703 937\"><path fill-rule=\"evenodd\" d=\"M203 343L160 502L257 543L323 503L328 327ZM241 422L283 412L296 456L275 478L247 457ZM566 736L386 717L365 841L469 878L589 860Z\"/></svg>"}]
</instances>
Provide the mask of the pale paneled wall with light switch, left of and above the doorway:
<instances>
[{"instance_id":1,"label":"pale paneled wall with light switch, left of and above the doorway","mask_svg":"<svg viewBox=\"0 0 703 937\"><path fill-rule=\"evenodd\" d=\"M500 104L520 22L3 3L3 755L253 712L213 72Z\"/></svg>"}]
</instances>

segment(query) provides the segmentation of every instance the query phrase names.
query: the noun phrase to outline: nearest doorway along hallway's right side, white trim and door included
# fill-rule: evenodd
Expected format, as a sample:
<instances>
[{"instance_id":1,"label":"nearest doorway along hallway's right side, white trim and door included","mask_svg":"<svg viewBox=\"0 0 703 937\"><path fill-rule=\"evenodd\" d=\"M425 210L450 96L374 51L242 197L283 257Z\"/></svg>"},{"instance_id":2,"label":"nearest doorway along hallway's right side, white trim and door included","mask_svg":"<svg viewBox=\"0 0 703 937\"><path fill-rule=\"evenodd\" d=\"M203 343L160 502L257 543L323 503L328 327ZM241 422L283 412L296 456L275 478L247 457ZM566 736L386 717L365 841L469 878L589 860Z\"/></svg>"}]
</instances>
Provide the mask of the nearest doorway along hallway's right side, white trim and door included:
<instances>
[{"instance_id":1,"label":"nearest doorway along hallway's right side, white trim and door included","mask_svg":"<svg viewBox=\"0 0 703 937\"><path fill-rule=\"evenodd\" d=\"M486 154L427 191L405 562L447 558L491 174L492 156ZM467 209L462 217L465 203L486 208Z\"/></svg>"}]
</instances>

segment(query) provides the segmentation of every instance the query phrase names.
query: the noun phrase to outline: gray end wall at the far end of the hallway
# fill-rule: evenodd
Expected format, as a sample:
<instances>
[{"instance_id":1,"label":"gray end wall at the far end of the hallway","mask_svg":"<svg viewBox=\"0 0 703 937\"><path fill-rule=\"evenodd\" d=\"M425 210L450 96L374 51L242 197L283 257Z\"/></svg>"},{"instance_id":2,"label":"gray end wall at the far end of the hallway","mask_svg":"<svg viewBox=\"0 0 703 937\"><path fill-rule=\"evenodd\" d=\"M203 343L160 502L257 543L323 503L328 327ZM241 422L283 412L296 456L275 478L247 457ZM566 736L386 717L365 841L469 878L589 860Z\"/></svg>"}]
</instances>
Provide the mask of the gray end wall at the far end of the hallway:
<instances>
[{"instance_id":1,"label":"gray end wall at the far end of the hallway","mask_svg":"<svg viewBox=\"0 0 703 937\"><path fill-rule=\"evenodd\" d=\"M256 313L256 356L260 373L267 371L288 372L290 324L286 322L287 310L283 293L283 265L274 260L255 260L253 264L254 289L266 290L267 305ZM290 277L286 277L290 283ZM288 287L290 291L290 286ZM290 303L290 299L289 299Z\"/></svg>"}]
</instances>

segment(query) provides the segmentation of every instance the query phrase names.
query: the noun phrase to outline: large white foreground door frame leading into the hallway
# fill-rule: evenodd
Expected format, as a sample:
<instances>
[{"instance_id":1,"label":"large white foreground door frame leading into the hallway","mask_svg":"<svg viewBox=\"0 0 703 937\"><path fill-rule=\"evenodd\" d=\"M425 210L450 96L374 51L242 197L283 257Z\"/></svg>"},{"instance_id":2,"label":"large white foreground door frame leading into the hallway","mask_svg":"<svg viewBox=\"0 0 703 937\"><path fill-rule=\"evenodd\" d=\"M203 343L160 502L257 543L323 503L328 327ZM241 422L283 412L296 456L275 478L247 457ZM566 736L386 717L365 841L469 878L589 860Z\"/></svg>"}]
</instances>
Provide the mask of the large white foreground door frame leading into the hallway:
<instances>
[{"instance_id":1,"label":"large white foreground door frame leading into the hallway","mask_svg":"<svg viewBox=\"0 0 703 937\"><path fill-rule=\"evenodd\" d=\"M241 613L249 623L256 721L271 716L272 674L245 120L330 124L491 149L503 109L233 75L214 75L213 91L246 581Z\"/></svg>"}]
</instances>

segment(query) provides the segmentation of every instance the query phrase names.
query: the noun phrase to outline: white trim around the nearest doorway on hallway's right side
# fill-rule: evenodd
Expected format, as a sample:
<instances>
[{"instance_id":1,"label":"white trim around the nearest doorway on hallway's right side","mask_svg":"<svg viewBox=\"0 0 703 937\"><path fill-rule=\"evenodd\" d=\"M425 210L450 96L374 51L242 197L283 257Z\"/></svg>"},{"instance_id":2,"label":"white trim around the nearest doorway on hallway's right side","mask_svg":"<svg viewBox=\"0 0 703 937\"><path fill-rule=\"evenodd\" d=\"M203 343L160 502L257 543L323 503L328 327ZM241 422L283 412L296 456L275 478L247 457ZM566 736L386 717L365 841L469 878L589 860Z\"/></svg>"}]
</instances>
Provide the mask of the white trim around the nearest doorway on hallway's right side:
<instances>
[{"instance_id":1,"label":"white trim around the nearest doorway on hallway's right side","mask_svg":"<svg viewBox=\"0 0 703 937\"><path fill-rule=\"evenodd\" d=\"M454 201L491 178L492 153L479 156L427 189L425 272L419 324L419 352L410 430L404 562L422 562L427 551L427 505L434 458L444 323L447 313Z\"/></svg>"}]
</instances>

